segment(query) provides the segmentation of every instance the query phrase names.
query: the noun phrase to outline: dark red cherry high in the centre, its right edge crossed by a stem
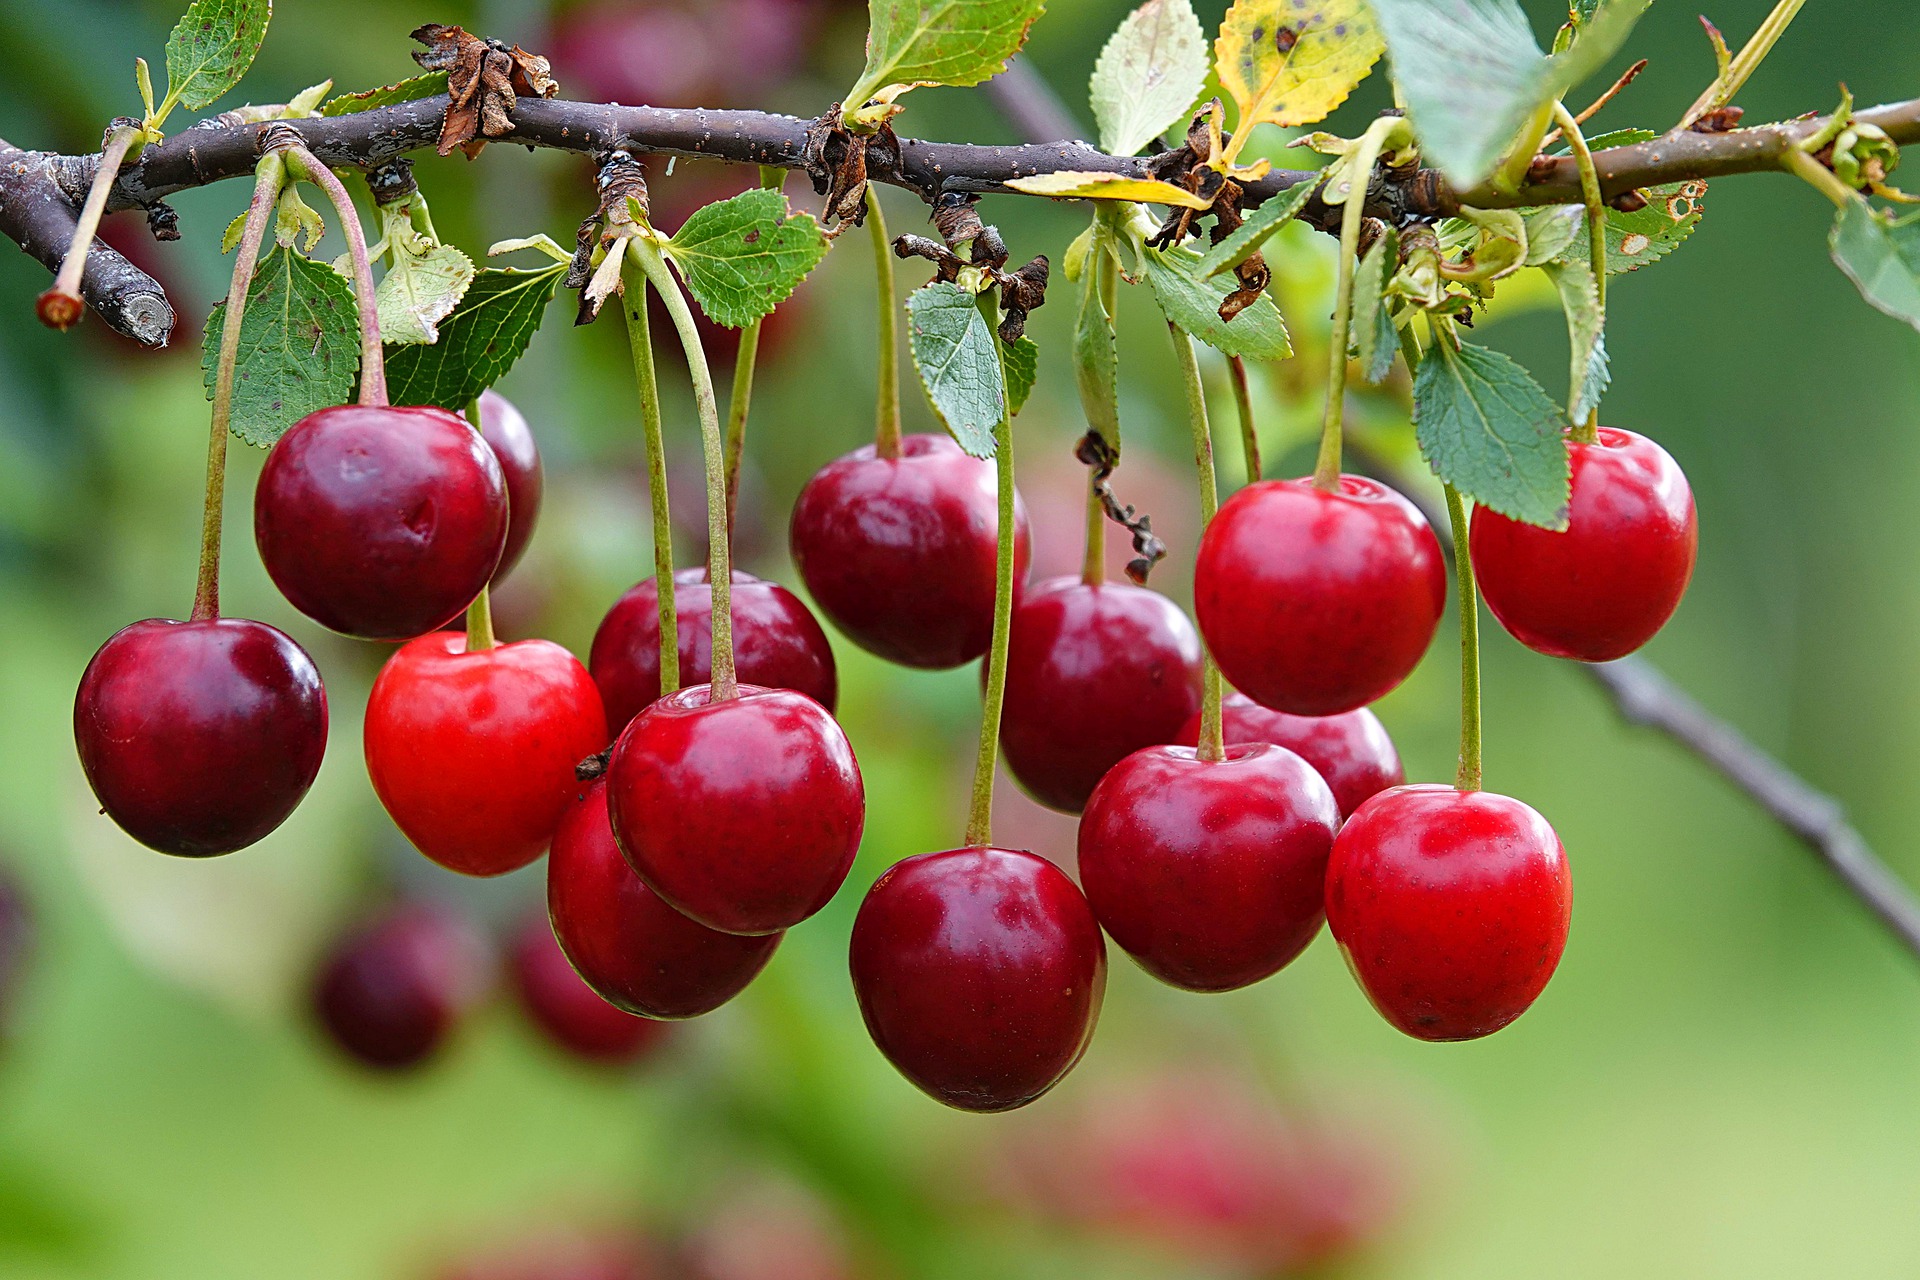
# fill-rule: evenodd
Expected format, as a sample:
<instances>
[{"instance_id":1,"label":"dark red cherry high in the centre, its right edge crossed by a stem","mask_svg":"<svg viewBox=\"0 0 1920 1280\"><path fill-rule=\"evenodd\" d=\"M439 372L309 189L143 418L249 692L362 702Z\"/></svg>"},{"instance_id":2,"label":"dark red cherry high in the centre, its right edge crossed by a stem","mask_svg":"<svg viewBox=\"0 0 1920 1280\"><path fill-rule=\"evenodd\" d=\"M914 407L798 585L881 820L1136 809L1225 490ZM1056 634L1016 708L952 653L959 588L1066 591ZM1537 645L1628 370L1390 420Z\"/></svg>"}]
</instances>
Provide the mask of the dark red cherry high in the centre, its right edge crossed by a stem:
<instances>
[{"instance_id":1,"label":"dark red cherry high in the centre, its right edge crossed by a stem","mask_svg":"<svg viewBox=\"0 0 1920 1280\"><path fill-rule=\"evenodd\" d=\"M793 564L820 610L868 652L924 670L962 666L993 641L998 553L993 462L947 436L906 436L828 462L793 503ZM1031 533L1014 497L1014 581Z\"/></svg>"}]
</instances>

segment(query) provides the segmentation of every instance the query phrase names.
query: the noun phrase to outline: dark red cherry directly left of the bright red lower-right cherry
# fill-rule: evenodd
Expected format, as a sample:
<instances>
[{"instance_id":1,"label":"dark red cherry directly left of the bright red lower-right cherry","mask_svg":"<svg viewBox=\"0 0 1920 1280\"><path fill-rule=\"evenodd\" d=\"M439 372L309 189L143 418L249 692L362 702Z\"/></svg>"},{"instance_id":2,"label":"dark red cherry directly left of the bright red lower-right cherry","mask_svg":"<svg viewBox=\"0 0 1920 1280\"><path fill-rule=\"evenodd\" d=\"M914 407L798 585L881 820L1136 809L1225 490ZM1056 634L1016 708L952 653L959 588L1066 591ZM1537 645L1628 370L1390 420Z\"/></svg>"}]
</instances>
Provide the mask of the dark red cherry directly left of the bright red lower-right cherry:
<instances>
[{"instance_id":1,"label":"dark red cherry directly left of the bright red lower-right cherry","mask_svg":"<svg viewBox=\"0 0 1920 1280\"><path fill-rule=\"evenodd\" d=\"M1162 983L1235 990L1279 973L1325 919L1332 791L1271 743L1225 760L1137 750L1100 779L1079 829L1087 902Z\"/></svg>"}]
</instances>

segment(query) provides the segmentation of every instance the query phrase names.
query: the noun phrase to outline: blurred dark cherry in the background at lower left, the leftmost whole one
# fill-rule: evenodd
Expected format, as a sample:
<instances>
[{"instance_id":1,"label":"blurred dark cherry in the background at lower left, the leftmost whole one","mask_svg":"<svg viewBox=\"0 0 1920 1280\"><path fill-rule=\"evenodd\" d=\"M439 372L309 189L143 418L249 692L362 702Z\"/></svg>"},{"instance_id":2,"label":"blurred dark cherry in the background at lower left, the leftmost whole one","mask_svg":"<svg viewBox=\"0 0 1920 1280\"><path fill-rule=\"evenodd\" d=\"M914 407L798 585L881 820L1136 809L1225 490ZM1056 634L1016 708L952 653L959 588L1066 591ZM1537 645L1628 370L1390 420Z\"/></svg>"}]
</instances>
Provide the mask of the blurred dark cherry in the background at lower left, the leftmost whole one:
<instances>
[{"instance_id":1,"label":"blurred dark cherry in the background at lower left, the leftmost whole one","mask_svg":"<svg viewBox=\"0 0 1920 1280\"><path fill-rule=\"evenodd\" d=\"M488 977L486 948L461 919L403 904L334 944L313 988L313 1011L349 1055L397 1071L434 1055Z\"/></svg>"}]
</instances>

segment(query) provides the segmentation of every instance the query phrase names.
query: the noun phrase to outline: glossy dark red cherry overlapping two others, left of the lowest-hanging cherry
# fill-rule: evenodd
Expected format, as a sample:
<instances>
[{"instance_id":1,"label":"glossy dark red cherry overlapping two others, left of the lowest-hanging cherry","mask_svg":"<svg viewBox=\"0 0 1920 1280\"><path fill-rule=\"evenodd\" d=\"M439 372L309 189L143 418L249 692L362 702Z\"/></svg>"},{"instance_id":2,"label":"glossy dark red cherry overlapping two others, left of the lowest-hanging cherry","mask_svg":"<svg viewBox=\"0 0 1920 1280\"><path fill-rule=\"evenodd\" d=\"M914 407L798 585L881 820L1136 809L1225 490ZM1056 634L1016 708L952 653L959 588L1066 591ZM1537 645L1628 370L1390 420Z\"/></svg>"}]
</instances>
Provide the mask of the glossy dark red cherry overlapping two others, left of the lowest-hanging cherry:
<instances>
[{"instance_id":1,"label":"glossy dark red cherry overlapping two others, left of the lowest-hanging cherry","mask_svg":"<svg viewBox=\"0 0 1920 1280\"><path fill-rule=\"evenodd\" d=\"M676 912L780 933L833 898L860 848L866 791L820 702L741 685L672 693L620 735L607 812L620 852Z\"/></svg>"}]
</instances>

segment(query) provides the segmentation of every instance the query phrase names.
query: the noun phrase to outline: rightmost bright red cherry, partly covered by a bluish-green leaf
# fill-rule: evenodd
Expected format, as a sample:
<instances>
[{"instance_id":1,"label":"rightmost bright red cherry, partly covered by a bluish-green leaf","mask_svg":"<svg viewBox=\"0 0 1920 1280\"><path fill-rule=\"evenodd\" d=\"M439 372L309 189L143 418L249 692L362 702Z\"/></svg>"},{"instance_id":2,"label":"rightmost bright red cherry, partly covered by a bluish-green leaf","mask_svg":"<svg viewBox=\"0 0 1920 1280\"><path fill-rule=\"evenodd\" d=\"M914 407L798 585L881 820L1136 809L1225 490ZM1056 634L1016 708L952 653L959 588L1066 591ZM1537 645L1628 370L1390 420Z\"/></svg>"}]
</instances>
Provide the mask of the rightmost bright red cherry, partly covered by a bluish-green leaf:
<instances>
[{"instance_id":1,"label":"rightmost bright red cherry, partly covered by a bluish-green leaf","mask_svg":"<svg viewBox=\"0 0 1920 1280\"><path fill-rule=\"evenodd\" d=\"M1551 532L1476 509L1467 547L1486 606L1555 658L1611 662L1667 626L1693 576L1699 518L1680 464L1645 436L1601 428L1567 445L1572 501Z\"/></svg>"}]
</instances>

